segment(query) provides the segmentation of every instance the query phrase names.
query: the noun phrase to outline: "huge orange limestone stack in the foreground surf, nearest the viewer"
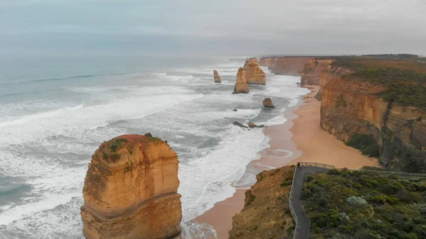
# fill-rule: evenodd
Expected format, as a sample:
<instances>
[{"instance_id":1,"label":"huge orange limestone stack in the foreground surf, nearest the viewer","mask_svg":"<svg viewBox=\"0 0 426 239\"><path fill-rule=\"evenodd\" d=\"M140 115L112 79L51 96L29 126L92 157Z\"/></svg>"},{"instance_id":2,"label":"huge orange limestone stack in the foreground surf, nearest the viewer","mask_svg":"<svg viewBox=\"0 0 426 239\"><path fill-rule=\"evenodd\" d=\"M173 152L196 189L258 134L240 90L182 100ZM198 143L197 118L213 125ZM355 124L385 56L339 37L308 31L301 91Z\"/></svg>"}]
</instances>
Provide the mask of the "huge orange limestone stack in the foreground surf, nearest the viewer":
<instances>
[{"instance_id":1,"label":"huge orange limestone stack in the foreground surf, nearest the viewer","mask_svg":"<svg viewBox=\"0 0 426 239\"><path fill-rule=\"evenodd\" d=\"M163 239L180 233L178 156L160 140L121 135L94 152L84 180L87 239Z\"/></svg>"}]
</instances>

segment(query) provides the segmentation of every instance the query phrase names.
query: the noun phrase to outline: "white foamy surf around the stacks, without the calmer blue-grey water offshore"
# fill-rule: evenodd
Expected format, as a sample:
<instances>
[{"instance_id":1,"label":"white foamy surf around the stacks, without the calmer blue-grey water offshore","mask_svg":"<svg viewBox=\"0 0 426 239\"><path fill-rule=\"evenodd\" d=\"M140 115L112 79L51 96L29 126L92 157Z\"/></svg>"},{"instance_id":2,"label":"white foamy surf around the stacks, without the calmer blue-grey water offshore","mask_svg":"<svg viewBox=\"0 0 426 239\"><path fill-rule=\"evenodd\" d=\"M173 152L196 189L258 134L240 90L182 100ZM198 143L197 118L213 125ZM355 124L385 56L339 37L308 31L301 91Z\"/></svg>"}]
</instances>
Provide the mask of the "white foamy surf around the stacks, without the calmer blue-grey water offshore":
<instances>
[{"instance_id":1,"label":"white foamy surf around the stacks, without the calmer blue-grey water offshore","mask_svg":"<svg viewBox=\"0 0 426 239\"><path fill-rule=\"evenodd\" d=\"M31 193L2 206L0 238L82 238L81 189L90 155L102 141L141 129L173 138L170 145L181 150L185 239L214 236L214 228L190 223L191 219L231 196L246 165L268 148L269 139L261 129L243 130L231 123L236 119L245 123L264 113L259 96L291 101L305 92L296 87L297 77L269 73L268 85L253 87L250 94L231 94L234 82L226 80L223 86L205 84L213 69L221 76L235 76L242 64L244 60L148 77L134 74L133 85L119 87L102 81L90 87L65 87L70 94L86 97L74 104L54 100L1 104L0 128L7 137L0 138L0 173L24 179ZM218 90L224 86L229 92ZM266 126L284 123L281 113L270 111ZM244 179L246 184L253 176Z\"/></svg>"}]
</instances>

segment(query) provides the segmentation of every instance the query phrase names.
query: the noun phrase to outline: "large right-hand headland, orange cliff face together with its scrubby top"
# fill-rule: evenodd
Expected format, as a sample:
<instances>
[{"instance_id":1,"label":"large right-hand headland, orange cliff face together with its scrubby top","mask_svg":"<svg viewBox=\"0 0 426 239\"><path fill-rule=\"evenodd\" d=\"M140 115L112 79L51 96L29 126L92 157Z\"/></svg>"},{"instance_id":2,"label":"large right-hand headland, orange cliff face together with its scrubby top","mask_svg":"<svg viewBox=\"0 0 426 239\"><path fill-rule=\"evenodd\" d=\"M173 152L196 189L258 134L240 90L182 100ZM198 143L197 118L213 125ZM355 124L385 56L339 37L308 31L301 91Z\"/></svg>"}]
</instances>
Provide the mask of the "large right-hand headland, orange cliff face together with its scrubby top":
<instances>
[{"instance_id":1,"label":"large right-hand headland, orange cliff face together with its scrubby top","mask_svg":"<svg viewBox=\"0 0 426 239\"><path fill-rule=\"evenodd\" d=\"M341 57L321 85L324 130L388 169L426 172L426 65Z\"/></svg>"}]
</instances>

